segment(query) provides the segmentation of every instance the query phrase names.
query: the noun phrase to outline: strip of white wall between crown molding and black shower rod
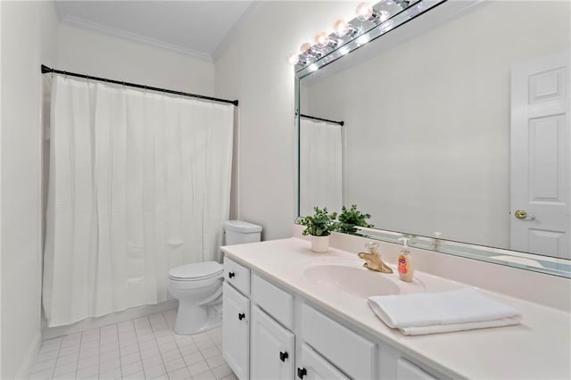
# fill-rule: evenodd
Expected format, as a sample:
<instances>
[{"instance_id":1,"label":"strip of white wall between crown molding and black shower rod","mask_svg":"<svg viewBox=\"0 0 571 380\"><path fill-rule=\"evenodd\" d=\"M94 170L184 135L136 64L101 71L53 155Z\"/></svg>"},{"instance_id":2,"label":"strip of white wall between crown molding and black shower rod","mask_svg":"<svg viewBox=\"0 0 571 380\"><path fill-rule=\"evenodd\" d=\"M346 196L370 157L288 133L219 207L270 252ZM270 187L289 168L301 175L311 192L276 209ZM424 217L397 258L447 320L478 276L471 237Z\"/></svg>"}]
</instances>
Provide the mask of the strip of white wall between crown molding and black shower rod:
<instances>
[{"instance_id":1,"label":"strip of white wall between crown molding and black shower rod","mask_svg":"<svg viewBox=\"0 0 571 380\"><path fill-rule=\"evenodd\" d=\"M214 64L119 37L62 25L58 67L199 95L214 93Z\"/></svg>"}]
</instances>

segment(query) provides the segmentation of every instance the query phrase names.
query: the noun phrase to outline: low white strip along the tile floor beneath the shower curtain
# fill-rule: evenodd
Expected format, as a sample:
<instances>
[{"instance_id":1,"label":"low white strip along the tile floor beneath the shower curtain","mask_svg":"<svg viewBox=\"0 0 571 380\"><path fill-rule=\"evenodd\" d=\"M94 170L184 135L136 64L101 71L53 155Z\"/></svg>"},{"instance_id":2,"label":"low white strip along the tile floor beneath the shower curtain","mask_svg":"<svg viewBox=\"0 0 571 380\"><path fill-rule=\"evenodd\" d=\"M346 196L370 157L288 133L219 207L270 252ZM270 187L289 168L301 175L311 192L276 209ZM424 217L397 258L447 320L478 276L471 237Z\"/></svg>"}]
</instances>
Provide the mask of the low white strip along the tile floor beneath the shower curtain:
<instances>
[{"instance_id":1,"label":"low white strip along the tile floor beneath the shower curtain","mask_svg":"<svg viewBox=\"0 0 571 380\"><path fill-rule=\"evenodd\" d=\"M42 317L42 336L44 339L51 339L58 336L76 334L84 330L89 330L90 328L112 325L114 323L120 323L126 320L146 317L162 311L176 309L177 306L178 300L173 299L161 302L157 305L139 306L138 308L119 311L99 318L84 319L78 323L74 323L73 325L58 327L48 327L46 324L46 318Z\"/></svg>"}]
</instances>

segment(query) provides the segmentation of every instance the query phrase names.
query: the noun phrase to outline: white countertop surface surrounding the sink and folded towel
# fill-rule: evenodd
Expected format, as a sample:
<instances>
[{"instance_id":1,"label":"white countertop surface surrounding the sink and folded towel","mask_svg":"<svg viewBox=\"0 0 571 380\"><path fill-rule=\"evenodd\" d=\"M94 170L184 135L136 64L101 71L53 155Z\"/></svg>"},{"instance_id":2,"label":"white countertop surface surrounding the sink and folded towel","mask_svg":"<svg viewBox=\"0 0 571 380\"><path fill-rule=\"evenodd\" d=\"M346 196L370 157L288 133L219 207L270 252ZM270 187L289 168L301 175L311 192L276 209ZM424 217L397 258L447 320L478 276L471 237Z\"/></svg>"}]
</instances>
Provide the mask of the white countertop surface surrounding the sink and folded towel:
<instances>
[{"instance_id":1,"label":"white countertop surface surrounding the sink and folded towel","mask_svg":"<svg viewBox=\"0 0 571 380\"><path fill-rule=\"evenodd\" d=\"M269 277L446 376L482 379L571 378L571 314L565 311L481 289L489 297L521 310L524 317L522 323L456 333L407 336L378 319L369 309L365 298L327 290L303 276L305 268L320 264L362 268L363 260L357 257L356 252L330 248L327 253L314 253L310 251L308 241L294 237L230 245L222 247L222 250L229 258ZM378 276L392 276L399 281L396 274L379 273ZM486 274L482 273L482 276ZM431 293L468 286L418 271L415 277L426 286L426 292ZM549 296L549 293L545 294L545 297Z\"/></svg>"}]
</instances>

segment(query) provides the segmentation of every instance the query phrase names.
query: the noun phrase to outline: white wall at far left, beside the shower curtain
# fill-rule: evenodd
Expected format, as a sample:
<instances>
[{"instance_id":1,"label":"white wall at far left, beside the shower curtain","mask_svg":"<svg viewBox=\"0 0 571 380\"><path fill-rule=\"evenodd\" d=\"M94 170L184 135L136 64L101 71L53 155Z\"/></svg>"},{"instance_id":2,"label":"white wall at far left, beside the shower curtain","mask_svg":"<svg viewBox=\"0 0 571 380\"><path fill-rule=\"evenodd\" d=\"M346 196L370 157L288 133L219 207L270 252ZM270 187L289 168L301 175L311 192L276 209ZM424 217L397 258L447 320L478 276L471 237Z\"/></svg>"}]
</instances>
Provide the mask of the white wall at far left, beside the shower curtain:
<instances>
[{"instance_id":1,"label":"white wall at far left, beside the shower curtain","mask_svg":"<svg viewBox=\"0 0 571 380\"><path fill-rule=\"evenodd\" d=\"M2 378L28 375L40 342L40 64L54 64L53 4L2 8Z\"/></svg>"}]
</instances>

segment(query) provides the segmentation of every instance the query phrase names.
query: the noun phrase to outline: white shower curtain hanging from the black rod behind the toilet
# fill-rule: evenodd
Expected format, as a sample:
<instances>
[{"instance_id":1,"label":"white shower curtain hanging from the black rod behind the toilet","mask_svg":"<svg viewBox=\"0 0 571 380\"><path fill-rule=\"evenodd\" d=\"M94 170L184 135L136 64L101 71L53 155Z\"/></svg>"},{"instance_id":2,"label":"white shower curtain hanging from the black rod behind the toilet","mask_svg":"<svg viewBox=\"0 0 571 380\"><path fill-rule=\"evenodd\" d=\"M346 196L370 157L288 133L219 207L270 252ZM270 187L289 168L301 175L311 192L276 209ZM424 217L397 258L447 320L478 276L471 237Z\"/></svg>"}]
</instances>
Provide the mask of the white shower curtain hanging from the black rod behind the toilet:
<instances>
[{"instance_id":1,"label":"white shower curtain hanging from the black rod behind the toilet","mask_svg":"<svg viewBox=\"0 0 571 380\"><path fill-rule=\"evenodd\" d=\"M220 260L233 106L54 76L48 326L167 299L169 268Z\"/></svg>"}]
</instances>

